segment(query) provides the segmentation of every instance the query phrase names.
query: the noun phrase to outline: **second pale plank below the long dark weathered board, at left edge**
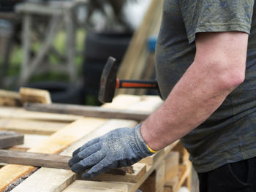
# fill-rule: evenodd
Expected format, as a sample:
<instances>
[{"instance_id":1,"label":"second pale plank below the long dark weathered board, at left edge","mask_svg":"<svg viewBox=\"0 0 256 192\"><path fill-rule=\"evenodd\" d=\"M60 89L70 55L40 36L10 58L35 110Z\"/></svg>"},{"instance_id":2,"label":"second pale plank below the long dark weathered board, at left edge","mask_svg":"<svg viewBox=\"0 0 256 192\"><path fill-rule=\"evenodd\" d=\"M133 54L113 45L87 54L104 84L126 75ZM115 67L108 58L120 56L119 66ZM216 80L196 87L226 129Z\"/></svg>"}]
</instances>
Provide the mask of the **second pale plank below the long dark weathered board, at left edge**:
<instances>
[{"instance_id":1,"label":"second pale plank below the long dark weathered board, at left edge","mask_svg":"<svg viewBox=\"0 0 256 192\"><path fill-rule=\"evenodd\" d=\"M50 122L45 120L0 119L0 130L17 131L22 134L50 135L67 125L67 122Z\"/></svg>"}]
</instances>

